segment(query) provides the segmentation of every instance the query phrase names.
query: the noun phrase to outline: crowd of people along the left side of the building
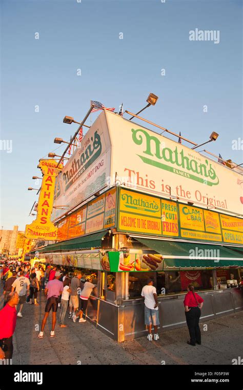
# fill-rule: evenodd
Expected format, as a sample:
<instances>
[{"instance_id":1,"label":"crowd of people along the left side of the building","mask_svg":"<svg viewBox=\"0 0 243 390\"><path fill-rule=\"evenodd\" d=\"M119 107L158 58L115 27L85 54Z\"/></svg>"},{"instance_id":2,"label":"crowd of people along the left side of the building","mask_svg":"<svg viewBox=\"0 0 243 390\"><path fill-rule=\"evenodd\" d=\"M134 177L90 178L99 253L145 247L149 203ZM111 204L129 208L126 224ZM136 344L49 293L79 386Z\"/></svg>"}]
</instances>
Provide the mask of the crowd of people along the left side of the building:
<instances>
[{"instance_id":1,"label":"crowd of people along the left side of the building","mask_svg":"<svg viewBox=\"0 0 243 390\"><path fill-rule=\"evenodd\" d=\"M87 275L72 267L58 267L20 260L0 263L0 278L3 286L3 308L0 309L0 359L11 359L12 336L17 318L23 317L24 304L38 306L41 295L46 298L45 313L38 338L44 337L44 329L52 310L50 337L55 336L57 310L59 326L67 327L65 318L73 322L86 322L85 314L90 295L97 296L96 274ZM41 292L42 291L42 292Z\"/></svg>"}]
</instances>

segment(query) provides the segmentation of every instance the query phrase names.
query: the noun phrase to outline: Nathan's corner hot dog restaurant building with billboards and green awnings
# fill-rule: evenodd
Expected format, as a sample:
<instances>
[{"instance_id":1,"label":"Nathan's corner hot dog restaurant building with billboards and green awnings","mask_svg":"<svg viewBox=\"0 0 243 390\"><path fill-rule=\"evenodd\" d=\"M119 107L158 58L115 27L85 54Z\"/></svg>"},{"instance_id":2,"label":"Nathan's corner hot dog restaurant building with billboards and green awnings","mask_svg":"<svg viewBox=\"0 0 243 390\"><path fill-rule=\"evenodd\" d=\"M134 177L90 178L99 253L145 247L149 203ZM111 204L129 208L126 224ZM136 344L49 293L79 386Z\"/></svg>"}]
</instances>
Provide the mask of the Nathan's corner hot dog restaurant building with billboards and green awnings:
<instances>
[{"instance_id":1,"label":"Nathan's corner hot dog restaurant building with billboards and green awnings","mask_svg":"<svg viewBox=\"0 0 243 390\"><path fill-rule=\"evenodd\" d=\"M117 341L147 334L148 277L160 330L185 326L189 283L205 300L202 321L234 313L243 309L242 183L234 169L104 110L57 175L57 240L38 255L96 273L86 316Z\"/></svg>"}]
</instances>

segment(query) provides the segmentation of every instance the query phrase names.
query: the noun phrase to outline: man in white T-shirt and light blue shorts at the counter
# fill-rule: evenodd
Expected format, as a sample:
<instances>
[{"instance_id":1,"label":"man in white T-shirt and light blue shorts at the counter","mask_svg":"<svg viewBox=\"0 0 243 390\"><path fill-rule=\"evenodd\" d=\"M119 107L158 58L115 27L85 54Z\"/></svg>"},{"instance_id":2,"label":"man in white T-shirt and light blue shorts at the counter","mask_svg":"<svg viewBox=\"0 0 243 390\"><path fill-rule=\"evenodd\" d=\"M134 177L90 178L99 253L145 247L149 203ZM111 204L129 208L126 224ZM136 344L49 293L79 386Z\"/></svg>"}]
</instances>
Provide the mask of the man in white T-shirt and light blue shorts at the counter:
<instances>
[{"instance_id":1,"label":"man in white T-shirt and light blue shorts at the counter","mask_svg":"<svg viewBox=\"0 0 243 390\"><path fill-rule=\"evenodd\" d=\"M154 340L158 340L158 299L156 294L156 288L153 286L152 279L147 280L147 285L141 290L141 296L144 298L145 304L145 325L149 330L147 339L149 341L153 340L152 336L152 325L154 326Z\"/></svg>"}]
</instances>

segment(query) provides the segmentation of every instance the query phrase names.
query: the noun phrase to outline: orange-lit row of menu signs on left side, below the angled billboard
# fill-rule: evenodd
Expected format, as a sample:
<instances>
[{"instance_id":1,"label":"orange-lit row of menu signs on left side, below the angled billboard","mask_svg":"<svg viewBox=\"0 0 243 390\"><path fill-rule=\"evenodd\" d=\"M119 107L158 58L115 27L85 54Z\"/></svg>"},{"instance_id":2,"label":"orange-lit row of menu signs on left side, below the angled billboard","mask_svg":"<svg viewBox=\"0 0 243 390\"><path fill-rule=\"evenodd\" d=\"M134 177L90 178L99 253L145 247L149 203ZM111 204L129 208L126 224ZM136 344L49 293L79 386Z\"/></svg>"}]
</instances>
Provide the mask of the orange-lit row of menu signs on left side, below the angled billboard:
<instances>
[{"instance_id":1,"label":"orange-lit row of menu signs on left side, below the angled billboard","mask_svg":"<svg viewBox=\"0 0 243 390\"><path fill-rule=\"evenodd\" d=\"M116 188L80 207L58 223L57 239L63 241L115 226Z\"/></svg>"}]
</instances>

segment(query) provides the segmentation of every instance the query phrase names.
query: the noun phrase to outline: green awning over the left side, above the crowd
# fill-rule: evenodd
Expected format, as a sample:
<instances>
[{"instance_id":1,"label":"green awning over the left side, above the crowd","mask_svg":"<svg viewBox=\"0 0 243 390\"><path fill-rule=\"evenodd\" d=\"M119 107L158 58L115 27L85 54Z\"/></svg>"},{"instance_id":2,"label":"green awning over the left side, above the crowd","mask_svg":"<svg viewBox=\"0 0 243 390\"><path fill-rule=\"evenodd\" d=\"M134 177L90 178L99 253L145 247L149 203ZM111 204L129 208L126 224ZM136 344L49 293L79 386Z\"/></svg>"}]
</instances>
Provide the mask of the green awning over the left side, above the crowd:
<instances>
[{"instance_id":1,"label":"green awning over the left side, above the crowd","mask_svg":"<svg viewBox=\"0 0 243 390\"><path fill-rule=\"evenodd\" d=\"M89 236L78 237L72 240L57 242L56 244L47 245L42 249L37 249L39 253L49 253L62 250L79 250L90 248L101 248L102 239L106 235L107 230L99 231Z\"/></svg>"}]
</instances>

